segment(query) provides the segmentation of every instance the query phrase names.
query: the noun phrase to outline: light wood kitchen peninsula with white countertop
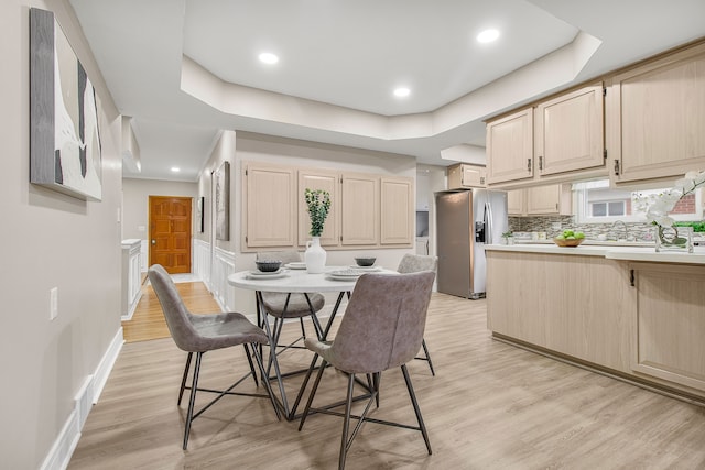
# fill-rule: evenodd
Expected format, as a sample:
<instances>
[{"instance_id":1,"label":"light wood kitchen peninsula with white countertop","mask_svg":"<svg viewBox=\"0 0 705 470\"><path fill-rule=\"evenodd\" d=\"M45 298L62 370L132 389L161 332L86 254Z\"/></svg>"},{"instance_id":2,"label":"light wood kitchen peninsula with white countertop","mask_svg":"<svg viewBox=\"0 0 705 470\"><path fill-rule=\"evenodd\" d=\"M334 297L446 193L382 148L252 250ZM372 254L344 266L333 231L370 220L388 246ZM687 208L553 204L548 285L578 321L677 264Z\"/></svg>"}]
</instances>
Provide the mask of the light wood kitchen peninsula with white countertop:
<instances>
[{"instance_id":1,"label":"light wood kitchen peninsula with white countertop","mask_svg":"<svg viewBox=\"0 0 705 470\"><path fill-rule=\"evenodd\" d=\"M496 339L705 402L705 248L487 245Z\"/></svg>"}]
</instances>

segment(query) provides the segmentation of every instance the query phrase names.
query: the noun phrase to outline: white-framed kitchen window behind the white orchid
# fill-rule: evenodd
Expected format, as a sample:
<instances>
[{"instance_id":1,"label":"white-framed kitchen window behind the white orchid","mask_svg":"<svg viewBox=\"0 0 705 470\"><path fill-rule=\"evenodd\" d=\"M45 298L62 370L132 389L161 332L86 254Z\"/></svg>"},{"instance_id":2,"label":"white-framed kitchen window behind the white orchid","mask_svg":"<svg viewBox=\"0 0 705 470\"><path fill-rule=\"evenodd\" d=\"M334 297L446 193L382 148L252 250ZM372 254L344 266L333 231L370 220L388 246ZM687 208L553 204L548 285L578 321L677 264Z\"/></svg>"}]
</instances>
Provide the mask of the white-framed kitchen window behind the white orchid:
<instances>
[{"instance_id":1,"label":"white-framed kitchen window behind the white orchid","mask_svg":"<svg viewBox=\"0 0 705 470\"><path fill-rule=\"evenodd\" d=\"M575 214L578 223L646 222L642 212L634 209L634 198L639 195L660 193L663 189L626 190L609 187L609 179L576 183ZM685 196L671 212L675 220L701 220L703 203L701 189Z\"/></svg>"}]
</instances>

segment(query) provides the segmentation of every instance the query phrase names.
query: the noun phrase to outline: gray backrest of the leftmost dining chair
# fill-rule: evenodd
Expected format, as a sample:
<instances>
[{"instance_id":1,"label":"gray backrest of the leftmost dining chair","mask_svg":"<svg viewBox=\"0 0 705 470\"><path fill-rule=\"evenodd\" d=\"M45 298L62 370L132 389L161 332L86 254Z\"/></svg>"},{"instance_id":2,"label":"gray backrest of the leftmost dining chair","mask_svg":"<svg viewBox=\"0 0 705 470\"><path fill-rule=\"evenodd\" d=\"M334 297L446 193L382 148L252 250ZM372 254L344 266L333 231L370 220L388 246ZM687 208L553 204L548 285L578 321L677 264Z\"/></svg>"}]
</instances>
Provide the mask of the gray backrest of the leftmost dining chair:
<instances>
[{"instance_id":1,"label":"gray backrest of the leftmost dining chair","mask_svg":"<svg viewBox=\"0 0 705 470\"><path fill-rule=\"evenodd\" d=\"M191 323L191 311L178 295L176 285L161 264L152 265L147 272L150 283L162 306L169 331L176 346L184 351L199 351L198 332Z\"/></svg>"}]
</instances>

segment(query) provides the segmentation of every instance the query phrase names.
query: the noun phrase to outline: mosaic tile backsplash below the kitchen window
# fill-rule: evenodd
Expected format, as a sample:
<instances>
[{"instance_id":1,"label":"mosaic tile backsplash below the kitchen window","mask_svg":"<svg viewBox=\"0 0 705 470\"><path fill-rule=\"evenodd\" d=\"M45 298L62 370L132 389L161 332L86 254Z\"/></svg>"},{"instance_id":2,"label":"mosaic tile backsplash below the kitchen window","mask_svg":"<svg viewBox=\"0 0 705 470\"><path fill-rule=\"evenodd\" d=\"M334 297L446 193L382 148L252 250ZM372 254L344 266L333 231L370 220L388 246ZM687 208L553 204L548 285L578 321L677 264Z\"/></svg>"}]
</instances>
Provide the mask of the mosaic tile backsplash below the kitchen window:
<instances>
[{"instance_id":1,"label":"mosaic tile backsplash below the kitchen window","mask_svg":"<svg viewBox=\"0 0 705 470\"><path fill-rule=\"evenodd\" d=\"M653 226L649 223L576 223L574 216L536 216L509 218L509 230L512 232L546 232L546 237L551 239L566 229L573 231L582 231L588 239L596 239L598 236L604 234L608 240L653 240Z\"/></svg>"}]
</instances>

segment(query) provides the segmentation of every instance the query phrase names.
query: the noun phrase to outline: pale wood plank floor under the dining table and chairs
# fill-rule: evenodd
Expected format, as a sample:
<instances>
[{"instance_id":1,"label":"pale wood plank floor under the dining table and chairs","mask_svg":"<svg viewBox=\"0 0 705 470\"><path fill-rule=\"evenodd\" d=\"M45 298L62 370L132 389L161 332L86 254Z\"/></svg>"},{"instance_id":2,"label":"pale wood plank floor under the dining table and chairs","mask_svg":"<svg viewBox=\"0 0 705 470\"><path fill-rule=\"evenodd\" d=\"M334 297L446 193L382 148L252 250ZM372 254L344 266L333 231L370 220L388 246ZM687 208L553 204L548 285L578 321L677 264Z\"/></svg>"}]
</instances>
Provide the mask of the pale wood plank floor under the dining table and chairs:
<instances>
[{"instance_id":1,"label":"pale wood plank floor under the dining table and chairs","mask_svg":"<svg viewBox=\"0 0 705 470\"><path fill-rule=\"evenodd\" d=\"M484 300L434 294L425 339L437 375L422 361L409 368L434 453L419 433L366 424L349 469L705 468L703 407L495 341ZM206 354L204 384L243 373L243 358L241 348ZM282 364L308 358L292 351ZM262 398L224 398L194 422L182 451L184 360L171 339L124 345L69 469L336 468L339 418L314 415L297 431ZM316 402L343 398L344 382L327 370ZM288 380L291 394L300 383ZM256 390L251 381L246 389ZM375 416L413 423L400 372L383 374Z\"/></svg>"}]
</instances>

